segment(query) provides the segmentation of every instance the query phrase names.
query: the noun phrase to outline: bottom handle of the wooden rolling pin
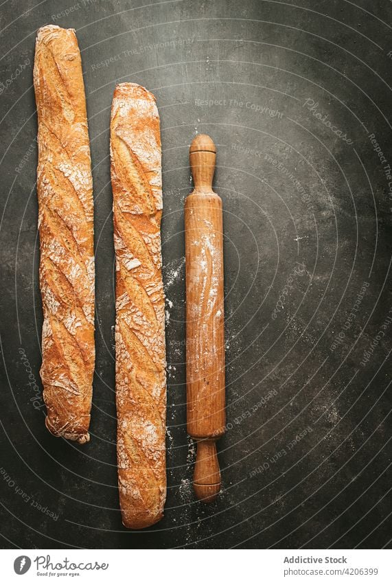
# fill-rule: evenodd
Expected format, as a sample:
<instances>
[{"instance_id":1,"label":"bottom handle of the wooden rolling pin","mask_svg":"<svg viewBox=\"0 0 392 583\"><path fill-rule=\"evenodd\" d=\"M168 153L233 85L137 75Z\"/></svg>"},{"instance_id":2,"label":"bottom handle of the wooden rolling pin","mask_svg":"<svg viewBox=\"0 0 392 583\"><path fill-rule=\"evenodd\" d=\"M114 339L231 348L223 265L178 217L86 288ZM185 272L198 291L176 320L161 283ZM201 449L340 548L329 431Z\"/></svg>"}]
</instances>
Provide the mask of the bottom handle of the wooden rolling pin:
<instances>
[{"instance_id":1,"label":"bottom handle of the wooden rolling pin","mask_svg":"<svg viewBox=\"0 0 392 583\"><path fill-rule=\"evenodd\" d=\"M220 492L220 470L215 439L197 442L194 492L203 502L214 502Z\"/></svg>"}]
</instances>

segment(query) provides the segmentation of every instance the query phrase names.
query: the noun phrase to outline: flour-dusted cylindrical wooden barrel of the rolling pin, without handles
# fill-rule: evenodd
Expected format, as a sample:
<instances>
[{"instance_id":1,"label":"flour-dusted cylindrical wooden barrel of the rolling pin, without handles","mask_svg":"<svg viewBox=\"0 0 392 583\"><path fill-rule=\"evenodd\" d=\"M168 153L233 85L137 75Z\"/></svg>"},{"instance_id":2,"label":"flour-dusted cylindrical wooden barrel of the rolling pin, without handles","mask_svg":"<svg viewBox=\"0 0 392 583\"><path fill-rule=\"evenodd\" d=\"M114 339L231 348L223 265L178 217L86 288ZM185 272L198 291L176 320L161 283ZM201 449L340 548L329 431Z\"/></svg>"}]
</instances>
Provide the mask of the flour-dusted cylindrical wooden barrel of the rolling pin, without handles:
<instances>
[{"instance_id":1,"label":"flour-dusted cylindrical wooden barrel of the rolling pin, without handles","mask_svg":"<svg viewBox=\"0 0 392 583\"><path fill-rule=\"evenodd\" d=\"M224 433L222 202L214 193L185 202L187 428L199 439Z\"/></svg>"}]
</instances>

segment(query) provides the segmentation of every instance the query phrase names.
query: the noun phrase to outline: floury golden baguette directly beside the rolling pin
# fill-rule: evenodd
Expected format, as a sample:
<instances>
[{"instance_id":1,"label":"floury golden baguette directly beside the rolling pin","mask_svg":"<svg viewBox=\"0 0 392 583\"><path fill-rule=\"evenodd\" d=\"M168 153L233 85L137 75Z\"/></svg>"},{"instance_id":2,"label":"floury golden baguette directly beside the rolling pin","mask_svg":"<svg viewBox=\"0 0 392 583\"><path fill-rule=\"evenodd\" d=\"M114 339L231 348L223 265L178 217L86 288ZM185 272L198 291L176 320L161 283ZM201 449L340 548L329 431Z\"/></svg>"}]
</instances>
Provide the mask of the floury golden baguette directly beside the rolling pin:
<instances>
[{"instance_id":1,"label":"floury golden baguette directly beside the rolling pin","mask_svg":"<svg viewBox=\"0 0 392 583\"><path fill-rule=\"evenodd\" d=\"M161 273L161 138L154 96L117 85L111 112L116 253L116 402L123 523L163 516L165 472L165 298Z\"/></svg>"}]
</instances>

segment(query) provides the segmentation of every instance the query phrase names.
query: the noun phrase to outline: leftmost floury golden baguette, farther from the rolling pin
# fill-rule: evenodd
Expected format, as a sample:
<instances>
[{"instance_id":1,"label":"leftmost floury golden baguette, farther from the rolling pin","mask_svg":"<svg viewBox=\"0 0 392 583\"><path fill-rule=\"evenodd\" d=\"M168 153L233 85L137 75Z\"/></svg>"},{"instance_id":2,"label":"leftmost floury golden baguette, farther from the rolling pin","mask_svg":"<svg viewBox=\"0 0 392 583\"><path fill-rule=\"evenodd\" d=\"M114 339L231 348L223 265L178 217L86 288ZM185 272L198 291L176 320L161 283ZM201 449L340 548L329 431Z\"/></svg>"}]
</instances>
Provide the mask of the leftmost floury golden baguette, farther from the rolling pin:
<instances>
[{"instance_id":1,"label":"leftmost floury golden baguette, farther from the rolling pin","mask_svg":"<svg viewBox=\"0 0 392 583\"><path fill-rule=\"evenodd\" d=\"M75 31L38 30L38 227L46 425L89 441L94 347L93 183Z\"/></svg>"}]
</instances>

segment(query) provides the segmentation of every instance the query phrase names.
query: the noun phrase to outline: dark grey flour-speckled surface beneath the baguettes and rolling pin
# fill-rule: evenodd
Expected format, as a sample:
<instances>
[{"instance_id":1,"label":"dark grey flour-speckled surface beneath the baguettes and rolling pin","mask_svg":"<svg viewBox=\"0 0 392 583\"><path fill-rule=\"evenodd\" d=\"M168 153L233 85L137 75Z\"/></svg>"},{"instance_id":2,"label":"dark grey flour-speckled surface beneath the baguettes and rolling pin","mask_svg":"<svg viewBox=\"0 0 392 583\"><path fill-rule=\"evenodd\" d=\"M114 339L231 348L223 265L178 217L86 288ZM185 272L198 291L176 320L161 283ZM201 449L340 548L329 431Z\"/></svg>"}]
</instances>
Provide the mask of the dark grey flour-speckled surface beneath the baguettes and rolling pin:
<instances>
[{"instance_id":1,"label":"dark grey flour-speckled surface beneath the baguettes and rolling pin","mask_svg":"<svg viewBox=\"0 0 392 583\"><path fill-rule=\"evenodd\" d=\"M1 4L4 547L389 544L391 16L382 0ZM77 30L89 112L97 364L83 447L49 435L40 400L32 64L46 23ZM122 527L115 467L108 127L119 81L157 96L163 144L168 501L143 532ZM183 204L196 132L218 146L225 231L228 431L223 491L208 506L192 493L185 428Z\"/></svg>"}]
</instances>

